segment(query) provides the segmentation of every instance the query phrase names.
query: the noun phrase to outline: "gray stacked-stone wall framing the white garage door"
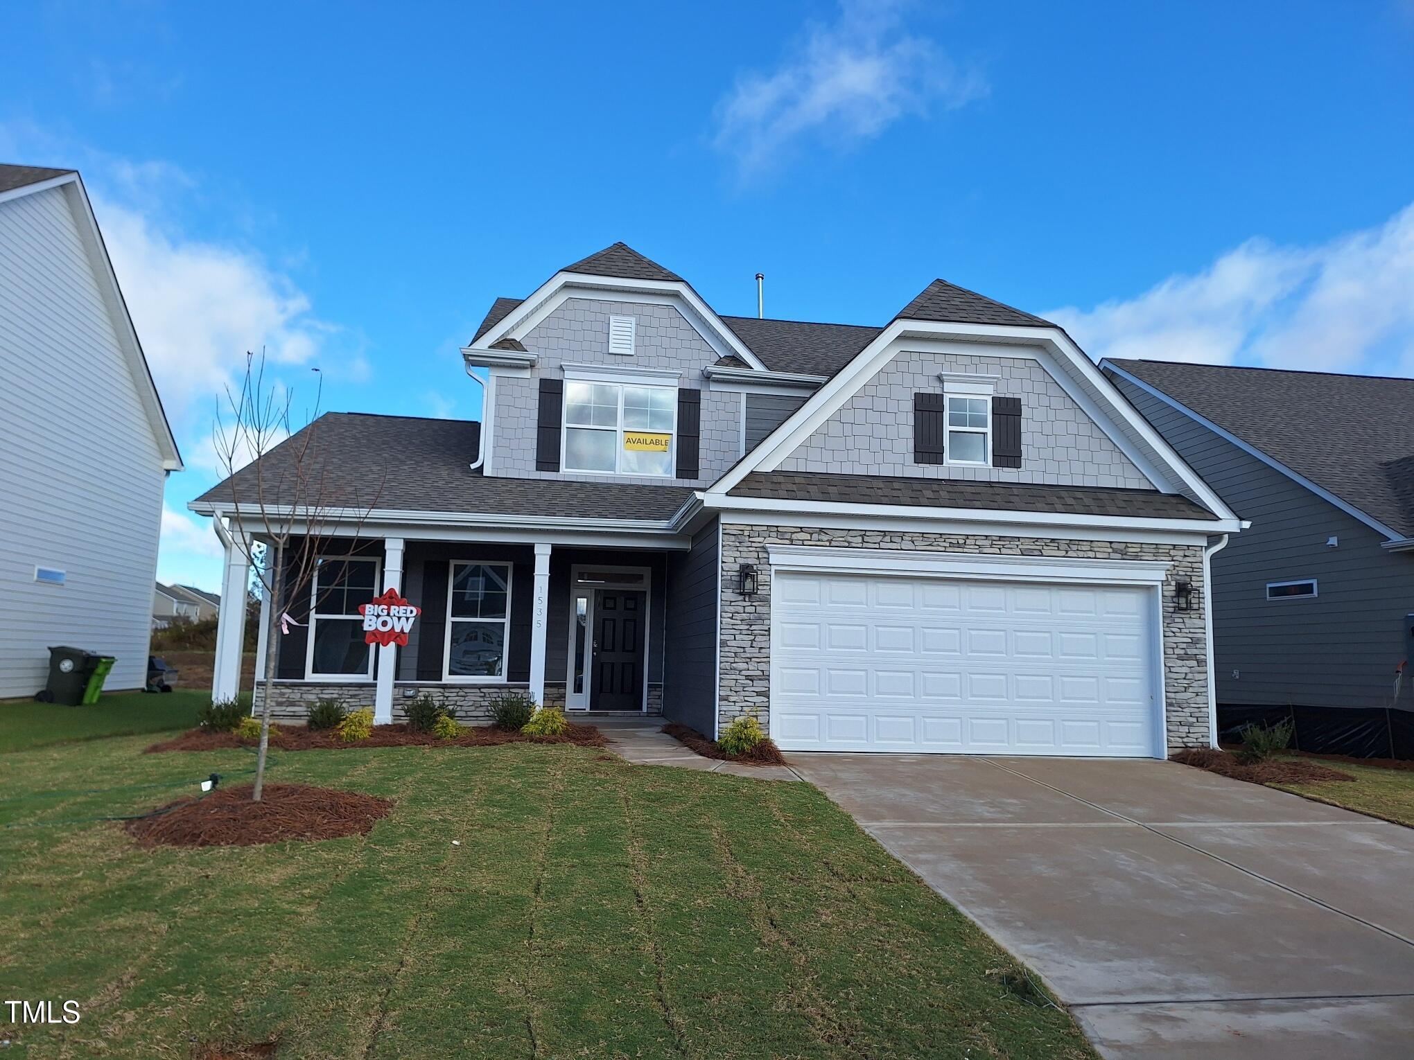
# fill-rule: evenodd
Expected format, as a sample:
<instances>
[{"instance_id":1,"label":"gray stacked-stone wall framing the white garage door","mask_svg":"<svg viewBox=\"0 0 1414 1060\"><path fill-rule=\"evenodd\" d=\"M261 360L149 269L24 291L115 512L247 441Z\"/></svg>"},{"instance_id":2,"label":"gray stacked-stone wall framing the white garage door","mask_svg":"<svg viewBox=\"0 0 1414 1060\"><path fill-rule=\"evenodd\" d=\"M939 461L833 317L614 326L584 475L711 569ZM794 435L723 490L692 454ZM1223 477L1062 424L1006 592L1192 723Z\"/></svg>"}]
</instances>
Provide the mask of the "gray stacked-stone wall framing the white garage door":
<instances>
[{"instance_id":1,"label":"gray stacked-stone wall framing the white garage door","mask_svg":"<svg viewBox=\"0 0 1414 1060\"><path fill-rule=\"evenodd\" d=\"M721 678L717 709L723 726L741 715L755 717L762 728L769 728L771 724L771 560L766 546L772 544L1085 560L1168 560L1172 565L1162 587L1168 749L1172 753L1184 748L1208 746L1208 650L1200 546L806 530L786 526L724 524L721 529ZM754 564L759 572L759 591L749 599L728 588L735 585L737 568L744 563ZM1193 585L1192 611L1174 611L1174 582L1179 578L1186 578Z\"/></svg>"}]
</instances>

